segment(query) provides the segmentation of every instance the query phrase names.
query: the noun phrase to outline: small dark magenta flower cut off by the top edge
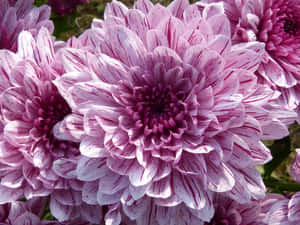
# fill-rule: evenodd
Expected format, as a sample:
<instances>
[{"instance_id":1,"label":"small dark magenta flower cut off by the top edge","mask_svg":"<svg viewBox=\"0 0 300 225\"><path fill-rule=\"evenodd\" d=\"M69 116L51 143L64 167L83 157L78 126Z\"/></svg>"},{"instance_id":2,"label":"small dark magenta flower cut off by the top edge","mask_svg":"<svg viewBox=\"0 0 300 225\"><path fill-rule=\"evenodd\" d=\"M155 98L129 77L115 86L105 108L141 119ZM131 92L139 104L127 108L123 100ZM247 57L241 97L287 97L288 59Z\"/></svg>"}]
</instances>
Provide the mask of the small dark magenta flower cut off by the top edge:
<instances>
[{"instance_id":1,"label":"small dark magenta flower cut off by the top edge","mask_svg":"<svg viewBox=\"0 0 300 225\"><path fill-rule=\"evenodd\" d=\"M78 4L87 3L89 0L49 0L48 5L51 6L53 12L57 15L64 16L73 13Z\"/></svg>"}]
</instances>

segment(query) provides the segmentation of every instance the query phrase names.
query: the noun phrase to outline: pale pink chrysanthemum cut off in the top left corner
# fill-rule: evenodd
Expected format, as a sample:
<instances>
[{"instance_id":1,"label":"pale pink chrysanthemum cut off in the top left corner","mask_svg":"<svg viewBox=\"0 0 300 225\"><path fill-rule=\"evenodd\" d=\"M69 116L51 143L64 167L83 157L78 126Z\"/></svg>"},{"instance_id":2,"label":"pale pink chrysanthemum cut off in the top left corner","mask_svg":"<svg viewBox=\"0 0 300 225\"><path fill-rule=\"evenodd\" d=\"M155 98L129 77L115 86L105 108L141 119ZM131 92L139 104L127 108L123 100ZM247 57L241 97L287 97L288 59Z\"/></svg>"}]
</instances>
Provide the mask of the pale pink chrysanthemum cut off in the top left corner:
<instances>
[{"instance_id":1,"label":"pale pink chrysanthemum cut off in the top left corner","mask_svg":"<svg viewBox=\"0 0 300 225\"><path fill-rule=\"evenodd\" d=\"M0 1L0 49L17 50L18 35L22 30L33 35L41 27L53 31L49 20L50 8L46 5L33 7L34 0Z\"/></svg>"}]
</instances>

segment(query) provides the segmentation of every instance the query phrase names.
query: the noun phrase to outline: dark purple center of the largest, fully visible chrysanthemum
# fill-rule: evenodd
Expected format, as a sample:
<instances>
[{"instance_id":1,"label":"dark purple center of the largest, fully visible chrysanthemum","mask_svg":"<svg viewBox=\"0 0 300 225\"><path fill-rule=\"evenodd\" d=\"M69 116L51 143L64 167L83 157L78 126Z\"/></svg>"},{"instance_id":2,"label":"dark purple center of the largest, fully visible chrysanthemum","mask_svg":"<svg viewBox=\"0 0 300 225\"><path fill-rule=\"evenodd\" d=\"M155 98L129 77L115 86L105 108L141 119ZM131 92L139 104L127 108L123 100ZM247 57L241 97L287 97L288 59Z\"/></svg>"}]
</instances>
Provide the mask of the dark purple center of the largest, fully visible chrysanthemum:
<instances>
[{"instance_id":1,"label":"dark purple center of the largest, fully visible chrysanthemum","mask_svg":"<svg viewBox=\"0 0 300 225\"><path fill-rule=\"evenodd\" d=\"M169 135L177 132L185 117L182 94L170 86L145 85L134 89L135 106L131 109L136 125L144 128L144 135Z\"/></svg>"}]
</instances>

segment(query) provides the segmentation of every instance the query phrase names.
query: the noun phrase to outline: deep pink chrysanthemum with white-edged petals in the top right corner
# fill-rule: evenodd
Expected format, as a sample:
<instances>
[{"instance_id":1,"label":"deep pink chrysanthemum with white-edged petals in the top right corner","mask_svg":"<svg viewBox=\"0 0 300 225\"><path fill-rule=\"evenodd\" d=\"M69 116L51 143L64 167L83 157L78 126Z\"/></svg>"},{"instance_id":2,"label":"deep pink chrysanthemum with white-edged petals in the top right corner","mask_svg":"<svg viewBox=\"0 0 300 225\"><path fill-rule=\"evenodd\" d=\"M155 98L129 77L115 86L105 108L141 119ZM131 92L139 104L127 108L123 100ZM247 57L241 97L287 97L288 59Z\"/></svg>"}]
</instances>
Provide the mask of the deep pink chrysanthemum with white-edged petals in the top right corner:
<instances>
[{"instance_id":1,"label":"deep pink chrysanthemum with white-edged petals in the top right corner","mask_svg":"<svg viewBox=\"0 0 300 225\"><path fill-rule=\"evenodd\" d=\"M219 0L206 0L216 2ZM266 54L258 74L295 109L300 100L300 5L297 0L222 1L234 42L261 41ZM299 114L300 115L300 114Z\"/></svg>"}]
</instances>

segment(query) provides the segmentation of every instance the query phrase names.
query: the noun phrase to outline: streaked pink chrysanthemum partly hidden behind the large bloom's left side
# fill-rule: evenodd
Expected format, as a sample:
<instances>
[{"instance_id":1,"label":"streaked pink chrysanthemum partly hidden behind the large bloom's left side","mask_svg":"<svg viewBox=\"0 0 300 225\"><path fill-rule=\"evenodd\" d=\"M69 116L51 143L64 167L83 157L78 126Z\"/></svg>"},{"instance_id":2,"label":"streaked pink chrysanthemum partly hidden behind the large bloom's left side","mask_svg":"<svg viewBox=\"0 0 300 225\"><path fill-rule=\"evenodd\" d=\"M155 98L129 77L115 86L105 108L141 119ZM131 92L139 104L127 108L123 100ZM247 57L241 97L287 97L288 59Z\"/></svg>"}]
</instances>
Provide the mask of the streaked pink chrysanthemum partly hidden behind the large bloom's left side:
<instances>
[{"instance_id":1,"label":"streaked pink chrysanthemum partly hidden behind the large bloom's left side","mask_svg":"<svg viewBox=\"0 0 300 225\"><path fill-rule=\"evenodd\" d=\"M74 175L78 143L53 135L54 125L71 113L52 83L59 76L53 37L46 28L36 39L23 31L19 44L17 54L0 51L0 202L51 194L50 209L59 221L98 223L101 208L82 201L83 184Z\"/></svg>"}]
</instances>

